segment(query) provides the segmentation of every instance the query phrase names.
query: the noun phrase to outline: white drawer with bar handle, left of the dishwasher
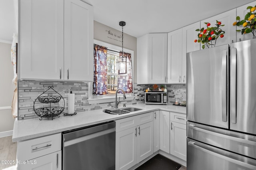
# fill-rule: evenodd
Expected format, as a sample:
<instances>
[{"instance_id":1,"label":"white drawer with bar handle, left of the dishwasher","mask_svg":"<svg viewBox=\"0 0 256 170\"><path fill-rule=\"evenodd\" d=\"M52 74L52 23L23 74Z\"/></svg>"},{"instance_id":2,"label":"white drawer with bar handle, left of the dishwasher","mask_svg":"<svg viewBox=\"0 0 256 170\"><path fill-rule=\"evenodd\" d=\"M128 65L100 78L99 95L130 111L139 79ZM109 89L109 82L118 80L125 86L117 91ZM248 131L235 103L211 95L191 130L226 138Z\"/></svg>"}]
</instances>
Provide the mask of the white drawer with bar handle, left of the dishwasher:
<instances>
[{"instance_id":1,"label":"white drawer with bar handle, left of the dishwasher","mask_svg":"<svg viewBox=\"0 0 256 170\"><path fill-rule=\"evenodd\" d=\"M18 160L31 160L61 150L61 133L18 142Z\"/></svg>"}]
</instances>

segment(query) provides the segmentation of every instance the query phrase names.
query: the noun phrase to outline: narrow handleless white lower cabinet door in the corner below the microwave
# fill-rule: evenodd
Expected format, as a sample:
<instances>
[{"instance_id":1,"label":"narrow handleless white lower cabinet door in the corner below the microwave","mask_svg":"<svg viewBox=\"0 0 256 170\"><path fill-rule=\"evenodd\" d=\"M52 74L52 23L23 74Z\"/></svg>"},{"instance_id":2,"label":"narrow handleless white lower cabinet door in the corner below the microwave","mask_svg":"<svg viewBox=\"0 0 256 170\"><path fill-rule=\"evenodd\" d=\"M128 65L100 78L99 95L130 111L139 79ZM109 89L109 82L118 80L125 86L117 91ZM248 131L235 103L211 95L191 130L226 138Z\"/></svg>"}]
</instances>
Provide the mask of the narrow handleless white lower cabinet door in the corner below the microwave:
<instances>
[{"instance_id":1,"label":"narrow handleless white lower cabinet door in the corner below the microwave","mask_svg":"<svg viewBox=\"0 0 256 170\"><path fill-rule=\"evenodd\" d=\"M160 150L170 153L170 113L160 111Z\"/></svg>"}]
</instances>

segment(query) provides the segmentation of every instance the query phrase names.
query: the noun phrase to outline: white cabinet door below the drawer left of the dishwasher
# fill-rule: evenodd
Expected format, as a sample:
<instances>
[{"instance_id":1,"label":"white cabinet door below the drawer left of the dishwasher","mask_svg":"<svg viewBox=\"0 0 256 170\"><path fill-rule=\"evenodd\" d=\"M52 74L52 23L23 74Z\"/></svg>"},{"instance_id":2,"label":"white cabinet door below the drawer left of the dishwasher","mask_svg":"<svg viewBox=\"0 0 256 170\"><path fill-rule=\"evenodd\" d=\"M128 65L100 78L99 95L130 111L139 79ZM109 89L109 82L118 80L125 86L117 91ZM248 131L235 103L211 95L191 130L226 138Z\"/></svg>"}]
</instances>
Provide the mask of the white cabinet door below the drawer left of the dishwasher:
<instances>
[{"instance_id":1,"label":"white cabinet door below the drawer left of the dishwasher","mask_svg":"<svg viewBox=\"0 0 256 170\"><path fill-rule=\"evenodd\" d=\"M44 155L25 163L18 163L18 170L61 170L61 150L48 155Z\"/></svg>"}]
</instances>

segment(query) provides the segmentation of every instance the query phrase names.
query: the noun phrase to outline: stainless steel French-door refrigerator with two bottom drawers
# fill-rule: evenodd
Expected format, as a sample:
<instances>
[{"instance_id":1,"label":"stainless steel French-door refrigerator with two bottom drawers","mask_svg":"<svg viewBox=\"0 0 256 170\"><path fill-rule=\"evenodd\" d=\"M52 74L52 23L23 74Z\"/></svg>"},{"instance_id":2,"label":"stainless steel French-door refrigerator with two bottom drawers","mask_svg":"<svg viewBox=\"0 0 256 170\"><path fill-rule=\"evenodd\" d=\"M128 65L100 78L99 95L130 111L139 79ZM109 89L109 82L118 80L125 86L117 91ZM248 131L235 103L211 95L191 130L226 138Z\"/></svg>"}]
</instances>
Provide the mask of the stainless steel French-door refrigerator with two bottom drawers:
<instances>
[{"instance_id":1,"label":"stainless steel French-door refrigerator with two bottom drawers","mask_svg":"<svg viewBox=\"0 0 256 170\"><path fill-rule=\"evenodd\" d=\"M256 39L186 59L187 170L256 170Z\"/></svg>"}]
</instances>

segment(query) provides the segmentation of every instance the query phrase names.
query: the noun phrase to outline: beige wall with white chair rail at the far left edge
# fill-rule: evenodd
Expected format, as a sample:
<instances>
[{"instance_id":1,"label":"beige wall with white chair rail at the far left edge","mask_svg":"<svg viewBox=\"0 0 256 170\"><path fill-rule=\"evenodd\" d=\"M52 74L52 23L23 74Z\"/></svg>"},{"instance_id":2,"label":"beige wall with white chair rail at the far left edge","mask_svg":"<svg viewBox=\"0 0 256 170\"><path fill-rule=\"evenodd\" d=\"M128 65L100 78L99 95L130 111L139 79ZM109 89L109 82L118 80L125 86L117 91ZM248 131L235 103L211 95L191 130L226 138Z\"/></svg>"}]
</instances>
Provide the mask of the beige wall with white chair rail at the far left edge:
<instances>
[{"instance_id":1,"label":"beige wall with white chair rail at the far left edge","mask_svg":"<svg viewBox=\"0 0 256 170\"><path fill-rule=\"evenodd\" d=\"M14 73L11 46L9 43L0 42L0 133L13 130L14 125L11 109L5 109L11 106L15 89L14 84L12 84Z\"/></svg>"}]
</instances>

